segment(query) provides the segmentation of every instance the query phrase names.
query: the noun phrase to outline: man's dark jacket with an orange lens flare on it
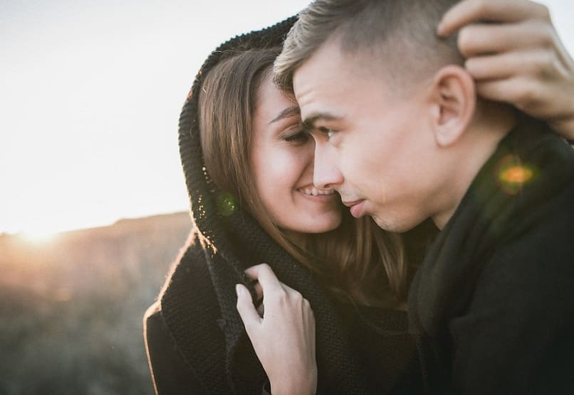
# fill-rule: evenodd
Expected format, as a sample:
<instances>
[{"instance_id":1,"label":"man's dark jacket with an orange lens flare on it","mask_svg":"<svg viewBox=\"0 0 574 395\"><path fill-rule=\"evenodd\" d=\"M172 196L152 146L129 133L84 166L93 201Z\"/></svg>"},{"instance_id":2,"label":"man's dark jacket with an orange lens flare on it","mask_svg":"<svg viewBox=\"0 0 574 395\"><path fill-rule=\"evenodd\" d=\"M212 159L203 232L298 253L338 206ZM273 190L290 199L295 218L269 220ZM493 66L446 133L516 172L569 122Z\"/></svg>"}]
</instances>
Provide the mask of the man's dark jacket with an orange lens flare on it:
<instances>
[{"instance_id":1,"label":"man's dark jacket with an orange lens flare on it","mask_svg":"<svg viewBox=\"0 0 574 395\"><path fill-rule=\"evenodd\" d=\"M409 291L434 394L574 394L574 151L523 117Z\"/></svg>"}]
</instances>

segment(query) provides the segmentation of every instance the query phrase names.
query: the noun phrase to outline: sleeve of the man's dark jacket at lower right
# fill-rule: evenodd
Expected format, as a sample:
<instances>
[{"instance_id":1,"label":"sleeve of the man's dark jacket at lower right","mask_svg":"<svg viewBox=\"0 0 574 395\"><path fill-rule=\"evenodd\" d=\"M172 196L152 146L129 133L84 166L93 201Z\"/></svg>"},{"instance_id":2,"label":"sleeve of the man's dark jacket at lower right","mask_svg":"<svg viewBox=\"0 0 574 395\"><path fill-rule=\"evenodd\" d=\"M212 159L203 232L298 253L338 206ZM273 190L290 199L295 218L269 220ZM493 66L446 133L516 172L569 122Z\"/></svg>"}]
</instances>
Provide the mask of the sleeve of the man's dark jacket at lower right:
<instances>
[{"instance_id":1,"label":"sleeve of the man's dark jacket at lower right","mask_svg":"<svg viewBox=\"0 0 574 395\"><path fill-rule=\"evenodd\" d=\"M457 393L574 394L573 220L557 216L573 232L536 229L486 265L450 323Z\"/></svg>"}]
</instances>

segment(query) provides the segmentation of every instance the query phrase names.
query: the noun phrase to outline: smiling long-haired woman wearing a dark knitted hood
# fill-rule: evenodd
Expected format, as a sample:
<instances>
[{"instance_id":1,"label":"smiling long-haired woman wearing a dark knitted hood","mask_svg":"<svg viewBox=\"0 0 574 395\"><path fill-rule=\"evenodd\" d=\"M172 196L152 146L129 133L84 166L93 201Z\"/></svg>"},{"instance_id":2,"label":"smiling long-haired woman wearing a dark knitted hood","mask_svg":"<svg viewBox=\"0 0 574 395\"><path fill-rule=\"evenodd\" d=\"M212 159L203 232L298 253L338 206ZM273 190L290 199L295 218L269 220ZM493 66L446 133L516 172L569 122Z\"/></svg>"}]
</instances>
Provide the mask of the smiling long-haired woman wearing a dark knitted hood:
<instances>
[{"instance_id":1,"label":"smiling long-haired woman wearing a dark knitted hood","mask_svg":"<svg viewBox=\"0 0 574 395\"><path fill-rule=\"evenodd\" d=\"M403 330L403 341L382 338L375 346L358 341L366 331L347 318L353 314L347 300L387 307L404 301L402 248L370 220L350 217L332 190L313 187L312 140L299 129L296 104L272 82L279 48L264 49L267 45L239 53L220 48L216 65L202 71L199 127L192 127L195 141L182 143L193 191L194 240L162 293L161 312L147 318L148 352L161 393L169 392L175 379L187 381L177 384L179 389L201 385L224 394L261 391L268 374L244 333L234 295L235 284L245 282L243 271L259 261L268 261L283 283L315 306L308 319L317 321L316 369L323 391L376 392L395 384L414 355L406 328L397 328L402 313L385 310L394 325L390 329ZM184 128L185 115L182 119ZM187 160L187 155L197 156ZM167 326L165 339L173 337L185 361L177 366L191 366L186 374L162 370L168 364L158 362L169 354L169 341L160 340L162 325ZM309 344L315 365L315 342ZM385 361L375 351L384 355L381 350L398 346L394 354L402 360L393 362L395 370L377 374ZM296 365L291 368L297 374ZM315 377L308 373L298 377ZM417 383L418 372L415 376L408 386Z\"/></svg>"}]
</instances>

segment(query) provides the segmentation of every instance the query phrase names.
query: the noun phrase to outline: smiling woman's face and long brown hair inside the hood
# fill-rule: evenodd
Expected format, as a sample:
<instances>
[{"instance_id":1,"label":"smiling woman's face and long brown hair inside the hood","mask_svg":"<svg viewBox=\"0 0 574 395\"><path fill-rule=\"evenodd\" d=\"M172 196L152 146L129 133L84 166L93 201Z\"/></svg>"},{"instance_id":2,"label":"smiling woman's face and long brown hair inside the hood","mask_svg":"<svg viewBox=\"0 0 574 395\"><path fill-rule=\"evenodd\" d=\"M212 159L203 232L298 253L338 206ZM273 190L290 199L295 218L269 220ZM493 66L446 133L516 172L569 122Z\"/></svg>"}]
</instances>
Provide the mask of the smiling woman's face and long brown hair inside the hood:
<instances>
[{"instance_id":1,"label":"smiling woman's face and long brown hair inside the hood","mask_svg":"<svg viewBox=\"0 0 574 395\"><path fill-rule=\"evenodd\" d=\"M313 140L301 131L296 103L273 84L271 65L279 50L224 52L229 58L220 60L204 77L199 129L210 178L218 188L231 192L277 244L315 275L317 291L327 288L335 299L346 302L334 301L336 308L344 310L346 305L350 310L349 301L395 308L405 300L407 274L397 237L380 232L369 219L354 220L342 210L333 190L313 186ZM302 288L300 282L290 285L307 295L311 290ZM285 289L286 295L294 293ZM301 297L298 300L304 302ZM387 314L392 312L385 310ZM375 358L378 346L355 341L365 339L365 332L349 326L356 354L361 359ZM380 350L388 349L389 345L380 343ZM314 366L314 347L308 350ZM412 347L397 354L409 356ZM373 383L373 390L395 381L368 371L367 367L377 367L377 363L365 365L361 369L367 377L361 381ZM291 374L296 373L296 366L289 368ZM301 377L310 377L308 372L301 373Z\"/></svg>"}]
</instances>

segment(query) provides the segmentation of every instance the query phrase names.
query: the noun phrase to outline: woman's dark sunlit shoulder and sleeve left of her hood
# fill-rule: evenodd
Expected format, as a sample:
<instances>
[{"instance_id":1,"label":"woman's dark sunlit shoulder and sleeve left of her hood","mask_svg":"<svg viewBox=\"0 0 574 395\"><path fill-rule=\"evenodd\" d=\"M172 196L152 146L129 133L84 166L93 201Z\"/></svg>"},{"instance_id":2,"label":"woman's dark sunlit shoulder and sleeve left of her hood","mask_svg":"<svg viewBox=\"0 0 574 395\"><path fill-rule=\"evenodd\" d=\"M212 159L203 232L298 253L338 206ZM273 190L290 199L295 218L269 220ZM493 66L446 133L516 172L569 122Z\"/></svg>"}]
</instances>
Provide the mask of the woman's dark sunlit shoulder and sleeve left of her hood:
<instances>
[{"instance_id":1,"label":"woman's dark sunlit shoulder and sleeve left of her hood","mask_svg":"<svg viewBox=\"0 0 574 395\"><path fill-rule=\"evenodd\" d=\"M221 310L206 253L188 245L144 317L148 361L159 394L229 392Z\"/></svg>"}]
</instances>

